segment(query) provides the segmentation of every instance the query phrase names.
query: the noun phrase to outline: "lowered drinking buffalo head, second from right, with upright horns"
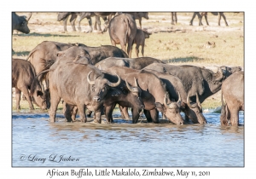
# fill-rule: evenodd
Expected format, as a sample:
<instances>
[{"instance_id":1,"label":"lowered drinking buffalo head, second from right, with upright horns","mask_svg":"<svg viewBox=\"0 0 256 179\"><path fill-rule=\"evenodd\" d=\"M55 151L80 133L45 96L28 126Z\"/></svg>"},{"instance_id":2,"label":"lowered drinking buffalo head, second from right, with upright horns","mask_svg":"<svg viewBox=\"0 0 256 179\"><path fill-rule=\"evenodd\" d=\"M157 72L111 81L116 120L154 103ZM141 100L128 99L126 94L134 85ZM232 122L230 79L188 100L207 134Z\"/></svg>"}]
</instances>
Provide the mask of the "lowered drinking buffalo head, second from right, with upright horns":
<instances>
[{"instance_id":1,"label":"lowered drinking buffalo head, second from right, with upright horns","mask_svg":"<svg viewBox=\"0 0 256 179\"><path fill-rule=\"evenodd\" d=\"M160 104L159 102L155 103L156 109L163 113L166 118L168 118L174 124L183 124L183 118L180 115L180 107L181 107L181 96L178 93L178 101L167 104L166 95L164 97L164 104Z\"/></svg>"}]
</instances>

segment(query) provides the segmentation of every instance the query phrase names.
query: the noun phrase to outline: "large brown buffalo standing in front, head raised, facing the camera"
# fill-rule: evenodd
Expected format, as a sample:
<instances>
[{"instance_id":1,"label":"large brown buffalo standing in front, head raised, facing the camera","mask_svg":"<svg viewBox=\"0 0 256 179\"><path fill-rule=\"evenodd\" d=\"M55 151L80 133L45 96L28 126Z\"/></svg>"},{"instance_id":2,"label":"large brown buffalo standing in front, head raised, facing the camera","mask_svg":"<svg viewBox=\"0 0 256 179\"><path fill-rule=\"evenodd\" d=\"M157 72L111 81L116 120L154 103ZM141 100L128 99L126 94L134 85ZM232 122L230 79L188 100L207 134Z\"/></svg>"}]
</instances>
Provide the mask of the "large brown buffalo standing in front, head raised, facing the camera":
<instances>
[{"instance_id":1,"label":"large brown buffalo standing in front, head raised, facing the camera","mask_svg":"<svg viewBox=\"0 0 256 179\"><path fill-rule=\"evenodd\" d=\"M61 101L70 106L77 106L82 122L86 122L85 107L95 111L96 122L101 123L102 100L110 87L120 83L111 83L105 74L90 64L61 62L49 68L50 108L49 118L55 122L56 109ZM67 117L70 122L71 118Z\"/></svg>"}]
</instances>

